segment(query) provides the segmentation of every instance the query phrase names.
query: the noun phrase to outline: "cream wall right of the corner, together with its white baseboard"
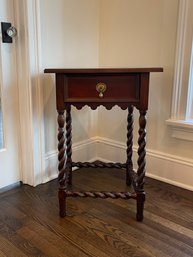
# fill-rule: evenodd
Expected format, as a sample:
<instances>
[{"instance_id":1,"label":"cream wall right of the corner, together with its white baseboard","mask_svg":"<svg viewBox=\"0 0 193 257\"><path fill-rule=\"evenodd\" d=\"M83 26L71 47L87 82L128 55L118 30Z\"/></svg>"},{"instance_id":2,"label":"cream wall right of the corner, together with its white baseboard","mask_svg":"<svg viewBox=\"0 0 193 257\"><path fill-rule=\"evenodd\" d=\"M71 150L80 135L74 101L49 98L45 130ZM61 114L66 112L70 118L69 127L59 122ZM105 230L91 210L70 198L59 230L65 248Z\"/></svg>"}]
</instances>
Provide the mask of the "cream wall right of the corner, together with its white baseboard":
<instances>
[{"instance_id":1,"label":"cream wall right of the corner, together with its white baseboard","mask_svg":"<svg viewBox=\"0 0 193 257\"><path fill-rule=\"evenodd\" d=\"M162 74L152 74L150 79L147 174L193 190L193 142L172 138L165 123L171 111L178 4L177 0L101 0L99 64L164 68ZM111 112L99 109L103 159L126 158L126 116L127 112L119 108ZM137 119L135 112L135 123ZM137 126L134 145L136 164Z\"/></svg>"}]
</instances>

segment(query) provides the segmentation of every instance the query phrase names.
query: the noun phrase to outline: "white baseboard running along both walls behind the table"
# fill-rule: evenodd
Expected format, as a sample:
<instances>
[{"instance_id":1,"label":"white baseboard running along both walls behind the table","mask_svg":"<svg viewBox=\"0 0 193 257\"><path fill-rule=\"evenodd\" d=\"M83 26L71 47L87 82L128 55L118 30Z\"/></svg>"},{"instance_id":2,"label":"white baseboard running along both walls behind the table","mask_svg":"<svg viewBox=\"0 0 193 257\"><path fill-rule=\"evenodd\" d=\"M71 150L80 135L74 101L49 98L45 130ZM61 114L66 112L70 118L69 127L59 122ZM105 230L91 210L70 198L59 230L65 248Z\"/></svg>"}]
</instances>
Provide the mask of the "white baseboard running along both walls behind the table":
<instances>
[{"instance_id":1,"label":"white baseboard running along both walls behind the table","mask_svg":"<svg viewBox=\"0 0 193 257\"><path fill-rule=\"evenodd\" d=\"M193 160L146 150L148 177L193 191ZM108 138L93 137L73 145L73 161L125 162L126 144ZM134 168L137 168L137 146L133 147ZM57 177L57 151L46 155L44 182Z\"/></svg>"}]
</instances>

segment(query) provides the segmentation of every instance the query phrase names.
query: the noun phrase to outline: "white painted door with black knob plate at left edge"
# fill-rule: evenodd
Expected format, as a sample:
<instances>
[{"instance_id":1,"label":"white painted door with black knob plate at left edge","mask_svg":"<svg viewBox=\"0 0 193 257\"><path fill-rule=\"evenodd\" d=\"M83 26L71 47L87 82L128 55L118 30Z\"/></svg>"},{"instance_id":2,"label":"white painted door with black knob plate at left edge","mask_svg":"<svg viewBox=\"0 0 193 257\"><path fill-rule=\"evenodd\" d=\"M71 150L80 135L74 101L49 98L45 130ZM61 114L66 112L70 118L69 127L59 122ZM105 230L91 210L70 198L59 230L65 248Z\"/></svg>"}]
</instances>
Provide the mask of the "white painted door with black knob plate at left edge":
<instances>
[{"instance_id":1,"label":"white painted door with black knob plate at left edge","mask_svg":"<svg viewBox=\"0 0 193 257\"><path fill-rule=\"evenodd\" d=\"M0 22L14 25L14 0L0 0ZM0 188L20 181L19 108L15 40L0 36Z\"/></svg>"}]
</instances>

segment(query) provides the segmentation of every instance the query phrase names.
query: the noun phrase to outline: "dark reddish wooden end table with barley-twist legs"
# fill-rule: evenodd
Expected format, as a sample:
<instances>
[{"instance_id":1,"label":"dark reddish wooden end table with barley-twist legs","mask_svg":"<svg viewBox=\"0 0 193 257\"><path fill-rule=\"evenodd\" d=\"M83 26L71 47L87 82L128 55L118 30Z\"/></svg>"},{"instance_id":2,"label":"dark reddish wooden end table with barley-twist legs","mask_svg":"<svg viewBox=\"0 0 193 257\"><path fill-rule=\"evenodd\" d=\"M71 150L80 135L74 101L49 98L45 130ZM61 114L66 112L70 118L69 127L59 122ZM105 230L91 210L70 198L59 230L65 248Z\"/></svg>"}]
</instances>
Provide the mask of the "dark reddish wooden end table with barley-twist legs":
<instances>
[{"instance_id":1,"label":"dark reddish wooden end table with barley-twist legs","mask_svg":"<svg viewBox=\"0 0 193 257\"><path fill-rule=\"evenodd\" d=\"M56 107L58 112L58 180L60 216L66 216L67 197L135 199L137 221L143 220L145 202L145 146L146 113L148 109L150 72L162 72L162 68L130 69L45 69L56 76ZM128 109L127 160L126 163L72 162L71 105L77 109L99 105L111 109L118 105ZM133 171L133 107L139 110L138 169ZM64 117L64 113L66 114ZM65 124L66 123L66 124ZM64 135L65 125L65 135ZM133 185L134 192L75 192L68 190L72 184L72 167L125 168L126 184Z\"/></svg>"}]
</instances>

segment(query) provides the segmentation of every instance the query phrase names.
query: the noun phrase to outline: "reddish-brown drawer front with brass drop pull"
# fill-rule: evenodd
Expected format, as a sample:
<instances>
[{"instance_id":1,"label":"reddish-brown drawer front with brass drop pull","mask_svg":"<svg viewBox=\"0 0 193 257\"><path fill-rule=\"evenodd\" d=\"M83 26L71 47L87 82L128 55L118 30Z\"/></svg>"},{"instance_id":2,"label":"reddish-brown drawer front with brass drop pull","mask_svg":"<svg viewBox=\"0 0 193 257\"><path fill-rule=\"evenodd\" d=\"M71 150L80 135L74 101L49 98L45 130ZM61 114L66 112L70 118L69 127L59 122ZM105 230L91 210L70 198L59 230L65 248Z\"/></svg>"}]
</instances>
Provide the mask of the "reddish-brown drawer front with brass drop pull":
<instances>
[{"instance_id":1,"label":"reddish-brown drawer front with brass drop pull","mask_svg":"<svg viewBox=\"0 0 193 257\"><path fill-rule=\"evenodd\" d=\"M139 74L116 75L116 76L68 76L66 100L87 101L101 100L123 101L139 100ZM101 90L102 89L102 90Z\"/></svg>"}]
</instances>

